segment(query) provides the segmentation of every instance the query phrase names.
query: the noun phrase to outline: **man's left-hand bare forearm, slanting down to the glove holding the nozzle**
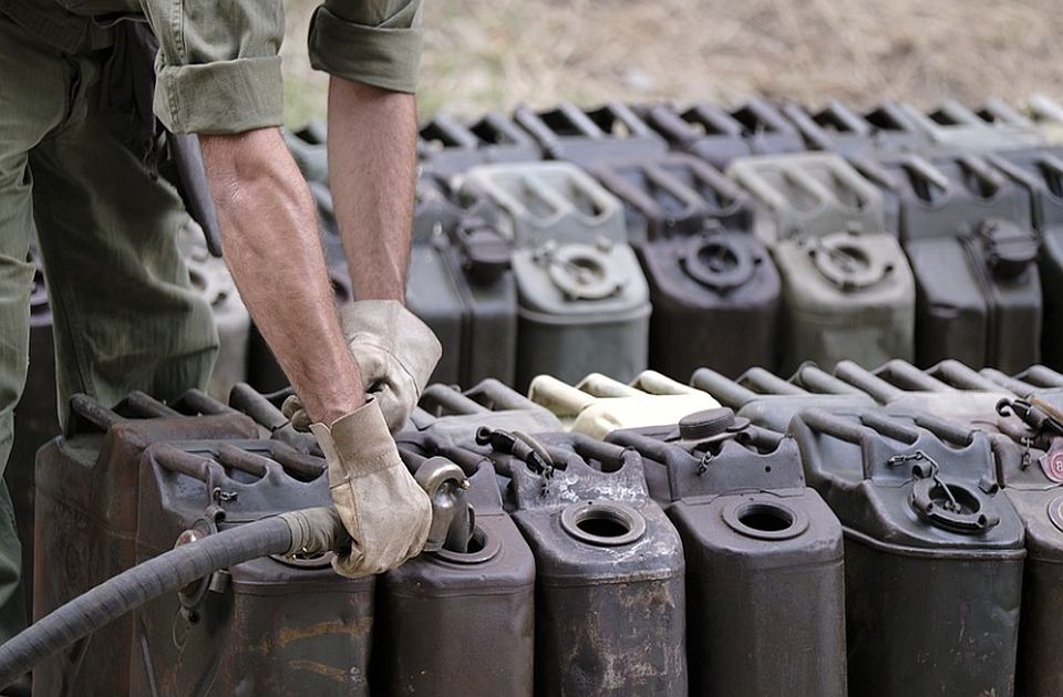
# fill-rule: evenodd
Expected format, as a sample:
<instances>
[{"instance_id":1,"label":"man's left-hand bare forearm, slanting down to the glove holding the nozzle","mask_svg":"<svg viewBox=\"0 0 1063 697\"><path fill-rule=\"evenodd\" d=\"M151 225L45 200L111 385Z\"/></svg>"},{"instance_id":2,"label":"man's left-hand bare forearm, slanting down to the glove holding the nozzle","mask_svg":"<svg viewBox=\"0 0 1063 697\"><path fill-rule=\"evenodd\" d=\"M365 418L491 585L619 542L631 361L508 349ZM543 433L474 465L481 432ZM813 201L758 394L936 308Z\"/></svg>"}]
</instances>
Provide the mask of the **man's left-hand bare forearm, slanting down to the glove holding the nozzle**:
<instances>
[{"instance_id":1,"label":"man's left-hand bare forearm, slanting down to the glove holding the nozzle","mask_svg":"<svg viewBox=\"0 0 1063 697\"><path fill-rule=\"evenodd\" d=\"M276 128L200 136L240 297L314 420L331 424L365 402L347 350L313 201Z\"/></svg>"}]
</instances>

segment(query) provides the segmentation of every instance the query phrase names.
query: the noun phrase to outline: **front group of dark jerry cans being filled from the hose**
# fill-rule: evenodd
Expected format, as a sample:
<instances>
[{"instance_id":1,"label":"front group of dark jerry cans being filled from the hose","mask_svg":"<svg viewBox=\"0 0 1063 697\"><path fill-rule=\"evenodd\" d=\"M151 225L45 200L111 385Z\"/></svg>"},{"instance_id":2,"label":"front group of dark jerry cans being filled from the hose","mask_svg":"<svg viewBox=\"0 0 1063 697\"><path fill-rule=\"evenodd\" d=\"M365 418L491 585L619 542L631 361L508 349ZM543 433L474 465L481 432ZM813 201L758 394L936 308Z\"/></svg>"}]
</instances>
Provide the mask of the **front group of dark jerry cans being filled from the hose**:
<instances>
[{"instance_id":1,"label":"front group of dark jerry cans being filled from the hose","mask_svg":"<svg viewBox=\"0 0 1063 697\"><path fill-rule=\"evenodd\" d=\"M278 397L75 397L38 454L34 615L327 504ZM467 545L357 581L328 556L234 566L53 657L34 695L1063 694L1044 366L434 384L396 443L465 471Z\"/></svg>"}]
</instances>

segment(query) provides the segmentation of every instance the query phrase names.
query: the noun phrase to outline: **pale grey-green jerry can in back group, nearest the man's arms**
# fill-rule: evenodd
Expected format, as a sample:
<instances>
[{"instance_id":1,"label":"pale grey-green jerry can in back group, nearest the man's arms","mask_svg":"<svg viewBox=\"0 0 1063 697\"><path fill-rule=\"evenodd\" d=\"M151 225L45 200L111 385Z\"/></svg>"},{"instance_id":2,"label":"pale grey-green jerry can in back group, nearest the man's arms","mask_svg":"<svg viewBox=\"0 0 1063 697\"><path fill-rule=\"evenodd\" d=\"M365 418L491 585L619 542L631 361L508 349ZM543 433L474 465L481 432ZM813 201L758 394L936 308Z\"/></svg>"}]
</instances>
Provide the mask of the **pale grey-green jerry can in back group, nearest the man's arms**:
<instances>
[{"instance_id":1,"label":"pale grey-green jerry can in back group, nearest the man's arms","mask_svg":"<svg viewBox=\"0 0 1063 697\"><path fill-rule=\"evenodd\" d=\"M646 368L649 289L616 197L567 163L476 167L463 190L491 198L515 247L517 387L539 373L631 379Z\"/></svg>"}]
</instances>

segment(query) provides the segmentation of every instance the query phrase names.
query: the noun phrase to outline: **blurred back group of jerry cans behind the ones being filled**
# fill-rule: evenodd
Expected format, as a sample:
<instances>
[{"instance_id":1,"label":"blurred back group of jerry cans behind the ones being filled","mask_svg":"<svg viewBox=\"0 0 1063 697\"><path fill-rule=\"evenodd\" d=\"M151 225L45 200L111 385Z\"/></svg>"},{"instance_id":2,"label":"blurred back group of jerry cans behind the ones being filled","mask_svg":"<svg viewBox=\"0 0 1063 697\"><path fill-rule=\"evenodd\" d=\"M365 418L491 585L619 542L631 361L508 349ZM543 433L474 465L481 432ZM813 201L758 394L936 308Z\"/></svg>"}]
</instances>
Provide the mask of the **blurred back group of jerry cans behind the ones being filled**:
<instances>
[{"instance_id":1,"label":"blurred back group of jerry cans behind the ones being filled","mask_svg":"<svg viewBox=\"0 0 1063 697\"><path fill-rule=\"evenodd\" d=\"M436 116L407 291L444 344L435 377L1063 370L1063 149L1051 103L1030 111L1041 121L998 102ZM339 268L324 143L321 126L290 138Z\"/></svg>"}]
</instances>

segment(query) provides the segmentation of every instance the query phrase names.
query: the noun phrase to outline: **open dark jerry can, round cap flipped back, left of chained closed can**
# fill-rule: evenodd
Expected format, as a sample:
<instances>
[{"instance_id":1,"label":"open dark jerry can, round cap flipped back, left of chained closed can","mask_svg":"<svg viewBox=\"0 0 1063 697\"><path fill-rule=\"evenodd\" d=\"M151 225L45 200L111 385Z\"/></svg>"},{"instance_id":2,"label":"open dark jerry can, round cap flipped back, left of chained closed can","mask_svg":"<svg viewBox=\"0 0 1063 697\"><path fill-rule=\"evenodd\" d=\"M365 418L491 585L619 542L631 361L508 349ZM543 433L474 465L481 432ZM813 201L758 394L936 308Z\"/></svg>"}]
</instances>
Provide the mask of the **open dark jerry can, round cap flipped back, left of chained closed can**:
<instances>
[{"instance_id":1,"label":"open dark jerry can, round cap flipped back, left of chained closed can","mask_svg":"<svg viewBox=\"0 0 1063 697\"><path fill-rule=\"evenodd\" d=\"M658 500L687 555L690 693L846 695L842 526L805 487L793 438L721 408L608 440L668 483Z\"/></svg>"}]
</instances>

